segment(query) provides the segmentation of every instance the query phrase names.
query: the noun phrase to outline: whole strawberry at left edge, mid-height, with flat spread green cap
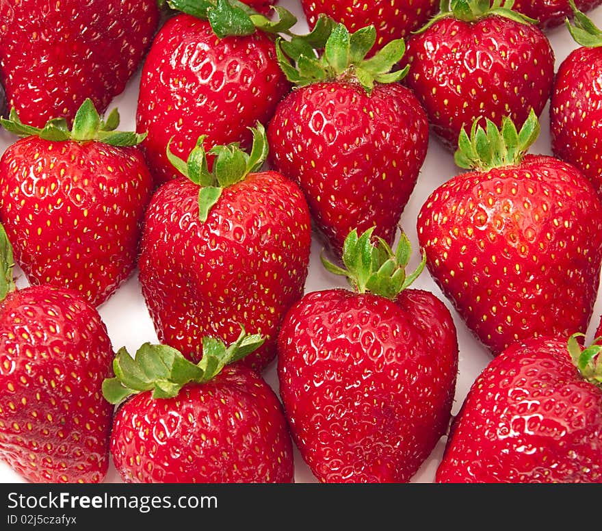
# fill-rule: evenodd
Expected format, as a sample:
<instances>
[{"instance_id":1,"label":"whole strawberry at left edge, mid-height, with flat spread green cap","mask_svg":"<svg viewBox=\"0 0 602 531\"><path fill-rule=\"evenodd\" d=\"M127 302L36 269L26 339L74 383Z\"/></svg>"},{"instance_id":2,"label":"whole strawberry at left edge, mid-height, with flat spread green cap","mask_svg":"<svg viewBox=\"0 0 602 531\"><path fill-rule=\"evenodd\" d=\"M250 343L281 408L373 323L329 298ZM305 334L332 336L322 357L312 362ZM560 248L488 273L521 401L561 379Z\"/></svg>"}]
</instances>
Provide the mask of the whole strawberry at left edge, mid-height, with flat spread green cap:
<instances>
[{"instance_id":1,"label":"whole strawberry at left edge, mid-height, with flat spread green cap","mask_svg":"<svg viewBox=\"0 0 602 531\"><path fill-rule=\"evenodd\" d=\"M68 130L66 120L44 129L24 125L12 109L6 129L26 135L0 158L0 222L32 284L80 292L94 305L107 300L135 268L153 178L135 147L142 135L115 131L90 100Z\"/></svg>"}]
</instances>

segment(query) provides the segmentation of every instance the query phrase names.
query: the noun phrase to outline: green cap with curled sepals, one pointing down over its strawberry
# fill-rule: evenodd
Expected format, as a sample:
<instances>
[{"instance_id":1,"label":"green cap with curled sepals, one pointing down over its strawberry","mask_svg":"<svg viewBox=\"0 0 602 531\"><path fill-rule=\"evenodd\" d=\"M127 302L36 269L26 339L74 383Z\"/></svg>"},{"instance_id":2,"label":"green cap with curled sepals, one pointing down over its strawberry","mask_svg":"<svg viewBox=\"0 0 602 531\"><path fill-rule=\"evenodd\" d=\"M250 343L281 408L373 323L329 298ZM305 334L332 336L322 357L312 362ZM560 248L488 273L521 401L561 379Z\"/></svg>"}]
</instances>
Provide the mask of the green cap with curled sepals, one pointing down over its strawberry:
<instances>
[{"instance_id":1,"label":"green cap with curled sepals, one pointing down over its strawberry","mask_svg":"<svg viewBox=\"0 0 602 531\"><path fill-rule=\"evenodd\" d=\"M201 135L196 146L184 161L170 151L167 145L167 156L172 166L181 174L200 186L198 191L198 218L205 222L209 217L211 207L218 202L224 188L232 186L249 174L259 170L267 158L267 138L265 128L260 122L257 127L249 128L253 133L253 144L250 153L245 153L239 147L239 142L231 142L226 146L213 146L209 153L205 151L203 142L207 135ZM213 168L209 171L207 155L215 155Z\"/></svg>"}]
</instances>

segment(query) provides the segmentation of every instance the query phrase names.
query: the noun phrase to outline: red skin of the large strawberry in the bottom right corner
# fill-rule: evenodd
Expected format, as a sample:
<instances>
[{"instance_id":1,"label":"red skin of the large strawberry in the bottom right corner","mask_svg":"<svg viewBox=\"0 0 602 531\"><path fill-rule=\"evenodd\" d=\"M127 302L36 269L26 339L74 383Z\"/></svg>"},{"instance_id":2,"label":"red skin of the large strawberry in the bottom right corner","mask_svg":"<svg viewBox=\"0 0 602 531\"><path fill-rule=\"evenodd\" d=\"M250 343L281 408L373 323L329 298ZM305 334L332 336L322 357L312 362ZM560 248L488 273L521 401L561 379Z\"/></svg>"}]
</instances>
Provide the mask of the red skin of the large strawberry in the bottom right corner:
<instances>
[{"instance_id":1,"label":"red skin of the large strawberry in the bottom right corner","mask_svg":"<svg viewBox=\"0 0 602 531\"><path fill-rule=\"evenodd\" d=\"M566 339L516 343L477 377L454 421L438 483L602 482L602 390Z\"/></svg>"}]
</instances>

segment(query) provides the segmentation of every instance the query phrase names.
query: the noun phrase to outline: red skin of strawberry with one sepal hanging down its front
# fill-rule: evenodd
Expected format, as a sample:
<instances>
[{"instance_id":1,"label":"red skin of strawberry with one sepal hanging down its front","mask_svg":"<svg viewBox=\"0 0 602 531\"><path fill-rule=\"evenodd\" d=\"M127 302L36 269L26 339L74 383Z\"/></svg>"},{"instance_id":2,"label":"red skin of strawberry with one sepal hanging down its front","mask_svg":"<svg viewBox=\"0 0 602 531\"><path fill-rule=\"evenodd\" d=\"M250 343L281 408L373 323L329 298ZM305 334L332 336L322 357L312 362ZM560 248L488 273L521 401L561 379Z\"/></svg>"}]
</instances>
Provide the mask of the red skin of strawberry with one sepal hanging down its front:
<instances>
[{"instance_id":1,"label":"red skin of strawberry with one sepal hanging down its front","mask_svg":"<svg viewBox=\"0 0 602 531\"><path fill-rule=\"evenodd\" d=\"M264 344L240 363L261 372L276 355L284 313L303 294L311 246L298 186L276 172L227 187L198 219L198 185L159 187L142 234L140 283L159 341L198 361L202 337L233 343L240 324Z\"/></svg>"}]
</instances>

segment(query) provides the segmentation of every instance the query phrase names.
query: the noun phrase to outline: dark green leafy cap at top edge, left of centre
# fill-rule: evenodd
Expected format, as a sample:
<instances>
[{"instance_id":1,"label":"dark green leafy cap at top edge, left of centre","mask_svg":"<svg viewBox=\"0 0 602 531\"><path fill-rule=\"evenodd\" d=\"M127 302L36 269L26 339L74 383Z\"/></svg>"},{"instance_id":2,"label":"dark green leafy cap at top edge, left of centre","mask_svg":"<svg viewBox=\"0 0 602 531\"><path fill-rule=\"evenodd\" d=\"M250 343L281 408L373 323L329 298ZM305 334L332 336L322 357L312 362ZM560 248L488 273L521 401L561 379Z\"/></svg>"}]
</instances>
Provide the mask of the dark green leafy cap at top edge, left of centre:
<instances>
[{"instance_id":1,"label":"dark green leafy cap at top edge, left of centre","mask_svg":"<svg viewBox=\"0 0 602 531\"><path fill-rule=\"evenodd\" d=\"M251 35L257 29L267 34L292 35L289 30L297 23L296 16L280 6L272 6L278 14L272 21L239 0L168 0L167 4L173 10L209 21L213 33L220 39Z\"/></svg>"}]
</instances>

